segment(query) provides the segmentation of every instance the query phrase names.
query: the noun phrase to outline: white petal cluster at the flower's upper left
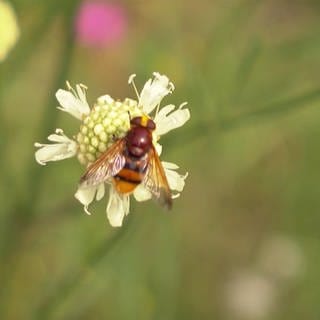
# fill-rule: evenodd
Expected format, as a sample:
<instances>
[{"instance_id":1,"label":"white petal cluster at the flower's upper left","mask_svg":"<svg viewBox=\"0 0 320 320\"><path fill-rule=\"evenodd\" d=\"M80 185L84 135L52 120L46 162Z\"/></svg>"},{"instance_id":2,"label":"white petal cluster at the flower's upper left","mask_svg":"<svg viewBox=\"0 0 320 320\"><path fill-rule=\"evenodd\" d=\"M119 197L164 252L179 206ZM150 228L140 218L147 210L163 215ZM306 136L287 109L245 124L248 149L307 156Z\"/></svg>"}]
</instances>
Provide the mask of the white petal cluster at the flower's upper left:
<instances>
[{"instance_id":1,"label":"white petal cluster at the flower's upper left","mask_svg":"<svg viewBox=\"0 0 320 320\"><path fill-rule=\"evenodd\" d=\"M74 91L70 85L68 86L70 91L59 89L56 92L56 98L60 103L58 109L68 112L75 118L82 120L83 116L90 112L90 107L86 100L85 87L77 85L77 91Z\"/></svg>"}]
</instances>

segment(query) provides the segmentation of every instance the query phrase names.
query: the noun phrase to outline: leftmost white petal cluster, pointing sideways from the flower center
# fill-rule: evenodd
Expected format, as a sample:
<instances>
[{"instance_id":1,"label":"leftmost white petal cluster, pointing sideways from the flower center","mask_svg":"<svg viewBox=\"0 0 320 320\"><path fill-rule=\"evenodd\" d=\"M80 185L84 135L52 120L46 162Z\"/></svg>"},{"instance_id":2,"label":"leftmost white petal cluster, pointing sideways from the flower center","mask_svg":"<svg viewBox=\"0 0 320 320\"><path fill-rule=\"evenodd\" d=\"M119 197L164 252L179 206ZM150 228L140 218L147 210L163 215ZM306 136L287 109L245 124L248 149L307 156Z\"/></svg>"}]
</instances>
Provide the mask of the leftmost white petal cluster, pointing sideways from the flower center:
<instances>
[{"instance_id":1,"label":"leftmost white petal cluster, pointing sideways from the flower center","mask_svg":"<svg viewBox=\"0 0 320 320\"><path fill-rule=\"evenodd\" d=\"M48 161L59 161L76 155L77 143L65 136L62 130L57 130L56 133L59 134L51 134L48 140L57 143L35 143L35 147L40 148L35 152L35 158L39 164L45 165Z\"/></svg>"}]
</instances>

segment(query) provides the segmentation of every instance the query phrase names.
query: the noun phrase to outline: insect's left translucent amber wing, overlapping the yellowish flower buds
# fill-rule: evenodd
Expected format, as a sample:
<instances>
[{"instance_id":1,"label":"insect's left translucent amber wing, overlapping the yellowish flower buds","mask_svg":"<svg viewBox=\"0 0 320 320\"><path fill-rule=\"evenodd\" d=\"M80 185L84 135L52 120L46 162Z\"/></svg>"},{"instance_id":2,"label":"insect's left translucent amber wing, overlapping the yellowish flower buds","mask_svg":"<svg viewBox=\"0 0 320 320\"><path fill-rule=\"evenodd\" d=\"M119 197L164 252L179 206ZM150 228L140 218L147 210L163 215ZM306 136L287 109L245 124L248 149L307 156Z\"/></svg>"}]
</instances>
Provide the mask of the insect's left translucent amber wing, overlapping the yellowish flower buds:
<instances>
[{"instance_id":1,"label":"insect's left translucent amber wing, overlapping the yellowish flower buds","mask_svg":"<svg viewBox=\"0 0 320 320\"><path fill-rule=\"evenodd\" d=\"M125 165L123 155L125 139L117 140L105 153L92 163L80 178L80 185L95 186L115 176Z\"/></svg>"}]
</instances>

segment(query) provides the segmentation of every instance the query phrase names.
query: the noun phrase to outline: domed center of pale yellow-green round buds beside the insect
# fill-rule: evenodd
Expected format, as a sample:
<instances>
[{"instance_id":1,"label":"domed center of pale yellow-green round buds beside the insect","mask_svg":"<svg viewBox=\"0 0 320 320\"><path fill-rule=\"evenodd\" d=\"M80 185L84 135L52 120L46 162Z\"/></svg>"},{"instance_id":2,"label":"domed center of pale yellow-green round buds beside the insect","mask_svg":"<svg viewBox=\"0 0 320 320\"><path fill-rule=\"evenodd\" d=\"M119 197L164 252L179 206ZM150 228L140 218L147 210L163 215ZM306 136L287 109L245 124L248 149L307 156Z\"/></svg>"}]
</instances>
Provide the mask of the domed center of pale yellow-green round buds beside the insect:
<instances>
[{"instance_id":1,"label":"domed center of pale yellow-green round buds beside the insect","mask_svg":"<svg viewBox=\"0 0 320 320\"><path fill-rule=\"evenodd\" d=\"M76 136L78 160L87 165L94 162L115 140L130 129L130 118L141 116L136 101L114 101L110 96L100 97L80 126Z\"/></svg>"}]
</instances>

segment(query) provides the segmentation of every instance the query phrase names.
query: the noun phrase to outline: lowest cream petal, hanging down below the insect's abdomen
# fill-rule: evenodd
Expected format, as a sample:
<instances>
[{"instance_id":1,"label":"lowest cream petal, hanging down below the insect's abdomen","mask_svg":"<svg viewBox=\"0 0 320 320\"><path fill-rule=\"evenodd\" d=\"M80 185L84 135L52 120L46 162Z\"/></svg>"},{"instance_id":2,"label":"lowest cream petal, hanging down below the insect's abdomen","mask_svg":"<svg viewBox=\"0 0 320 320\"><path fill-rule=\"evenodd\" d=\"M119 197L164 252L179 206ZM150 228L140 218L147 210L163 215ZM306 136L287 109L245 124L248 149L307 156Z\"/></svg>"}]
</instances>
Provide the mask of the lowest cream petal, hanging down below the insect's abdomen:
<instances>
[{"instance_id":1,"label":"lowest cream petal, hanging down below the insect's abdomen","mask_svg":"<svg viewBox=\"0 0 320 320\"><path fill-rule=\"evenodd\" d=\"M119 194L110 186L107 217L112 227L121 227L124 216L129 213L130 199L128 195Z\"/></svg>"}]
</instances>

